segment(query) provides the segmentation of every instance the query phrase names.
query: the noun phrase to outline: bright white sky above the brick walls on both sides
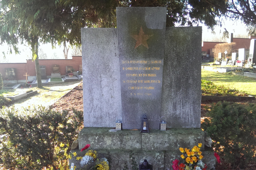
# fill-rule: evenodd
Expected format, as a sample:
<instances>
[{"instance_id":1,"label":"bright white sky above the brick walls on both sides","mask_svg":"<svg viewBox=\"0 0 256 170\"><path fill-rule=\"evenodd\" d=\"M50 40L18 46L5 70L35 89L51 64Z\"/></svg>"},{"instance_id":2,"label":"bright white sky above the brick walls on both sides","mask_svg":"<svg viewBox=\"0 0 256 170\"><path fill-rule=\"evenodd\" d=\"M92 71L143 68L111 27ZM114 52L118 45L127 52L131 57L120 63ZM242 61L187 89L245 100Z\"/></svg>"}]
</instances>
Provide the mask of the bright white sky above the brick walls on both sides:
<instances>
[{"instance_id":1,"label":"bright white sky above the brick walls on both sides","mask_svg":"<svg viewBox=\"0 0 256 170\"><path fill-rule=\"evenodd\" d=\"M208 30L205 25L201 24L199 26L202 26L202 41L211 41L212 37L222 37L222 32L224 31L224 28L226 28L227 31L229 31L230 33L233 33L233 37L236 37L238 34L247 35L246 25L242 22L237 21L224 21L222 28L215 27L215 34L212 34L211 30ZM31 59L31 49L30 47L27 47L25 45L19 46L19 55L10 54L6 55L6 59L3 59L2 51L7 51L7 49L8 46L6 44L0 46L0 62L26 62L26 59ZM64 59L63 45L61 47L57 45L55 49L52 49L51 44L40 44L39 56L40 53L46 53L47 59L51 59L54 57L58 59ZM68 52L68 59L71 59L71 48Z\"/></svg>"}]
</instances>

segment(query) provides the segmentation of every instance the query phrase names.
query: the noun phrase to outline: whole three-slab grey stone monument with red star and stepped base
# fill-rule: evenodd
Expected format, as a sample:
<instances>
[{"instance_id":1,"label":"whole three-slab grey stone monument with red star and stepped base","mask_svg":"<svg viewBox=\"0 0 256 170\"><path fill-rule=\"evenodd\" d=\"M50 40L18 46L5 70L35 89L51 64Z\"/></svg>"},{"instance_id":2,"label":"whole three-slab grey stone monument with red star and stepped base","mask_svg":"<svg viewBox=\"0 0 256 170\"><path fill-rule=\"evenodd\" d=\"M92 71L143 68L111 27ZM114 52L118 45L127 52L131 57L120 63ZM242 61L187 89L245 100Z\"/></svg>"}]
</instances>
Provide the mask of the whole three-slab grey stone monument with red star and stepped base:
<instances>
[{"instance_id":1,"label":"whole three-slab grey stone monument with red star and stepped base","mask_svg":"<svg viewBox=\"0 0 256 170\"><path fill-rule=\"evenodd\" d=\"M79 149L90 143L111 159L112 169L144 159L154 169L170 169L179 147L197 143L211 160L200 129L201 27L166 27L166 7L117 7L116 13L117 28L81 29ZM149 133L139 130L144 114ZM113 129L118 116L123 130ZM162 116L166 131L159 130Z\"/></svg>"}]
</instances>

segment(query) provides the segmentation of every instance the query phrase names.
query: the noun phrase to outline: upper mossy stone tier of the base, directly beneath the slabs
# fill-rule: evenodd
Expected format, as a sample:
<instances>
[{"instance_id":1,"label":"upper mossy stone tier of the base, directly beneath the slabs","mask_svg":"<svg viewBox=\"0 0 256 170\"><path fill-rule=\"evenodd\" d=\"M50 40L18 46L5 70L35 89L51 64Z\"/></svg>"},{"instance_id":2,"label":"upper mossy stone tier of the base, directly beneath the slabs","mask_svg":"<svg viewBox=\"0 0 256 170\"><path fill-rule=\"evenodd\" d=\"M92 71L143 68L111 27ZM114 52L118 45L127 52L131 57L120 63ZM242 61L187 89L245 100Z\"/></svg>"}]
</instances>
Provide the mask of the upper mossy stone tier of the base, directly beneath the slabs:
<instances>
[{"instance_id":1,"label":"upper mossy stone tier of the base, directly beneath the slabs","mask_svg":"<svg viewBox=\"0 0 256 170\"><path fill-rule=\"evenodd\" d=\"M200 128L172 128L166 131L150 130L150 133L140 133L140 130L117 130L110 128L84 127L79 135L79 149L91 144L95 149L107 150L167 150L173 151L180 147L192 148L202 143L204 150L205 137Z\"/></svg>"}]
</instances>

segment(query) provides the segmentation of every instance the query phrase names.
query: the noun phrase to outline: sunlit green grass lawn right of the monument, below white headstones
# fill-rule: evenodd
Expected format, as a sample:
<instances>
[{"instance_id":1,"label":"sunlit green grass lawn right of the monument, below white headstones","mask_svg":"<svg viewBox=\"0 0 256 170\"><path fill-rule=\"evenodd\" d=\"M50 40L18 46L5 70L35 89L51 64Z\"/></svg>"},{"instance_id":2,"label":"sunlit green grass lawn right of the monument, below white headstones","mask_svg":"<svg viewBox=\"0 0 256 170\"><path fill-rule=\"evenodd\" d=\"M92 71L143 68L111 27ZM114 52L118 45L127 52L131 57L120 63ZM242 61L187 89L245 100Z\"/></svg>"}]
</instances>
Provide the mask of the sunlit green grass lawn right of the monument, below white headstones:
<instances>
[{"instance_id":1,"label":"sunlit green grass lawn right of the monument, below white headstones","mask_svg":"<svg viewBox=\"0 0 256 170\"><path fill-rule=\"evenodd\" d=\"M224 85L231 89L245 91L249 95L256 96L256 79L252 77L233 75L230 73L218 73L202 69L201 79L212 81L216 85Z\"/></svg>"}]
</instances>

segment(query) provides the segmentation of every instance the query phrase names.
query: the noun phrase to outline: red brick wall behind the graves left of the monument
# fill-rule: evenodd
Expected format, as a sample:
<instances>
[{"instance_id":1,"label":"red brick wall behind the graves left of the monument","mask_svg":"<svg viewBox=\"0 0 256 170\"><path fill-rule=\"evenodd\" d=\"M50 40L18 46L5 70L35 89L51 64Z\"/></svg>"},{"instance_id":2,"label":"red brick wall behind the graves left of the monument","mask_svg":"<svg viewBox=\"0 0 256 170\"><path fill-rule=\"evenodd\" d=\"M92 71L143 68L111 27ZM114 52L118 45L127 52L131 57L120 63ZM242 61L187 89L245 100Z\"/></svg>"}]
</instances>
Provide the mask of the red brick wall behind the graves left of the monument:
<instances>
[{"instance_id":1,"label":"red brick wall behind the graves left of the monument","mask_svg":"<svg viewBox=\"0 0 256 170\"><path fill-rule=\"evenodd\" d=\"M79 65L82 64L82 56L72 56L72 59L39 59L39 65L46 66L46 75L51 75L52 65L60 65L60 74L66 74L66 66L72 66L75 71L79 71ZM26 74L36 76L35 61L27 60L27 63L0 63L0 72L5 76L5 68L16 68L17 80L25 80Z\"/></svg>"}]
</instances>

